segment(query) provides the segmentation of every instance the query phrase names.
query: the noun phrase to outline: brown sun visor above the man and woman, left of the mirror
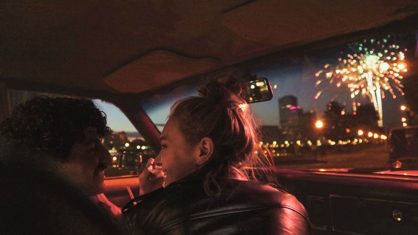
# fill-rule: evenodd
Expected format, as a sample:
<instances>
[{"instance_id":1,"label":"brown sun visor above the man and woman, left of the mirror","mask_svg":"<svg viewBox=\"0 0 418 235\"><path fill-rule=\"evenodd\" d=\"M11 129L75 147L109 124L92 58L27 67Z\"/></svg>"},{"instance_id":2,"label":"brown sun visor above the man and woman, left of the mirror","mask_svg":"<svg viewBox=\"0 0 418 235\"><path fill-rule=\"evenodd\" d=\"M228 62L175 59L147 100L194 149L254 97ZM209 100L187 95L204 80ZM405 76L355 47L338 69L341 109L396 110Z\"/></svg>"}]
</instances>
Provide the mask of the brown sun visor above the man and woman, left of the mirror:
<instances>
[{"instance_id":1,"label":"brown sun visor above the man and woman, left of the mirror","mask_svg":"<svg viewBox=\"0 0 418 235\"><path fill-rule=\"evenodd\" d=\"M187 58L170 51L153 51L107 75L104 82L119 92L137 93L155 89L219 64L211 58Z\"/></svg>"}]
</instances>

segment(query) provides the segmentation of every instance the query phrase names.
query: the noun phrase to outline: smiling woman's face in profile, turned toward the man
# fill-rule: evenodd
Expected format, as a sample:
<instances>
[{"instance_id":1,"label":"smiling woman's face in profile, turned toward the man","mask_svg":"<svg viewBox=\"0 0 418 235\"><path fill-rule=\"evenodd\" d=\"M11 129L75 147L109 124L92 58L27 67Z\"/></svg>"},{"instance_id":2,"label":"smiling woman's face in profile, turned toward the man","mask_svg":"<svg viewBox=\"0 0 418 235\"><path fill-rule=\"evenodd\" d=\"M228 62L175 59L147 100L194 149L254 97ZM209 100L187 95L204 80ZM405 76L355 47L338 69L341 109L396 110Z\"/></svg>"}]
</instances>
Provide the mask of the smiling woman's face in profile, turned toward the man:
<instances>
[{"instance_id":1,"label":"smiling woman's face in profile, turned toward the man","mask_svg":"<svg viewBox=\"0 0 418 235\"><path fill-rule=\"evenodd\" d=\"M163 173L167 176L165 186L198 169L198 144L189 146L178 130L175 119L168 119L161 133L160 143L161 151L155 158L155 163L161 164Z\"/></svg>"}]
</instances>

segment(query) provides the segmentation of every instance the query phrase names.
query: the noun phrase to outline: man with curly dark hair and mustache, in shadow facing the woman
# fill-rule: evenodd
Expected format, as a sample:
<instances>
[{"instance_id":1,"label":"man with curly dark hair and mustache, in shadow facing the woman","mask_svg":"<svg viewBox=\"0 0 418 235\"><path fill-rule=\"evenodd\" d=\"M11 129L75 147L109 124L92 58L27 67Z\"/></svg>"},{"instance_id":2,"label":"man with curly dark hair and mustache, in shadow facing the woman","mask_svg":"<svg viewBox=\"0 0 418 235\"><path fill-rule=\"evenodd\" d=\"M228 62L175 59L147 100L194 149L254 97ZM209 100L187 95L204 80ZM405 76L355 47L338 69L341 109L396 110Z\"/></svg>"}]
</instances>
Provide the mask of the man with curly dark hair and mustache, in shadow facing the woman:
<instances>
[{"instance_id":1,"label":"man with curly dark hair and mustache, in shadow facing the woman","mask_svg":"<svg viewBox=\"0 0 418 235\"><path fill-rule=\"evenodd\" d=\"M0 123L0 227L115 233L120 211L102 195L112 159L101 139L109 131L89 100L35 97L16 107Z\"/></svg>"}]
</instances>

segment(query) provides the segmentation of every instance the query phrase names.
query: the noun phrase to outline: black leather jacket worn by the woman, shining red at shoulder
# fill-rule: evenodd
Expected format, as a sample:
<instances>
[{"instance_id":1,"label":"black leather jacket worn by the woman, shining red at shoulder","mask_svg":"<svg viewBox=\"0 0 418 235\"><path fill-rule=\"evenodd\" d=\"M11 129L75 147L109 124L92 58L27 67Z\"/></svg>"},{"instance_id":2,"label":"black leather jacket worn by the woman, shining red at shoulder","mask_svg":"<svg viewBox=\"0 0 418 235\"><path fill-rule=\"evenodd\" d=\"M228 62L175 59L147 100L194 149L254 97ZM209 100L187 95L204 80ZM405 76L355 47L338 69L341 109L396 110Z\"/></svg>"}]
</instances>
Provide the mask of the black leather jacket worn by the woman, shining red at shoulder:
<instances>
[{"instance_id":1,"label":"black leather jacket worn by the woman, shining red at shoulder","mask_svg":"<svg viewBox=\"0 0 418 235\"><path fill-rule=\"evenodd\" d=\"M194 174L137 197L122 209L127 226L131 234L311 234L295 197L237 178L227 180L217 199L205 194Z\"/></svg>"}]
</instances>

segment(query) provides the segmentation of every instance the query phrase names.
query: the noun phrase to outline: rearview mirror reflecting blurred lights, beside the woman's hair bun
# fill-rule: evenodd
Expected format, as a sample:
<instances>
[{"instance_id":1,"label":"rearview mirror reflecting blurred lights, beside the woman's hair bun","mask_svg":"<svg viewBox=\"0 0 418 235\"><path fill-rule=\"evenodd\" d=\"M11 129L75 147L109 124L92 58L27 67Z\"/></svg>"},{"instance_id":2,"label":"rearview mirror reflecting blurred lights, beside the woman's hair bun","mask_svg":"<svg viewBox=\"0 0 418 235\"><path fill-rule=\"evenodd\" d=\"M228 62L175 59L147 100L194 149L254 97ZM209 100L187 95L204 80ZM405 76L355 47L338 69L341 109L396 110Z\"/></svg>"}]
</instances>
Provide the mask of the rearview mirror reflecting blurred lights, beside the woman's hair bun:
<instances>
[{"instance_id":1,"label":"rearview mirror reflecting blurred lights, beside the woman's hair bun","mask_svg":"<svg viewBox=\"0 0 418 235\"><path fill-rule=\"evenodd\" d=\"M273 98L273 91L267 78L253 79L244 82L242 87L246 93L247 103L269 101Z\"/></svg>"}]
</instances>

